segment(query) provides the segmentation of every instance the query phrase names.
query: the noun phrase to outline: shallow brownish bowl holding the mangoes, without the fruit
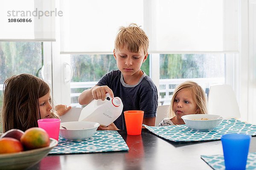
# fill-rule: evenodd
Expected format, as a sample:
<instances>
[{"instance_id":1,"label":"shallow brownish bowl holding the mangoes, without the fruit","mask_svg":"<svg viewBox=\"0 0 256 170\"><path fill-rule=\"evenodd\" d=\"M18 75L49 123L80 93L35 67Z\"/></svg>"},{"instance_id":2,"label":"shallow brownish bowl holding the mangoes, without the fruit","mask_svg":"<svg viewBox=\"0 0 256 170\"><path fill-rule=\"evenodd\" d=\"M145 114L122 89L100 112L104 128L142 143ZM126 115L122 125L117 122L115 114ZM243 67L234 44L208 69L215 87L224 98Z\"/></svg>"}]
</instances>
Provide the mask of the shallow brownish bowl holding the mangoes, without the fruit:
<instances>
[{"instance_id":1,"label":"shallow brownish bowl holding the mangoes, without the fruit","mask_svg":"<svg viewBox=\"0 0 256 170\"><path fill-rule=\"evenodd\" d=\"M41 159L48 155L58 144L58 141L50 138L50 145L33 150L26 150L18 153L1 153L0 154L0 169L17 170L26 169L37 164Z\"/></svg>"}]
</instances>

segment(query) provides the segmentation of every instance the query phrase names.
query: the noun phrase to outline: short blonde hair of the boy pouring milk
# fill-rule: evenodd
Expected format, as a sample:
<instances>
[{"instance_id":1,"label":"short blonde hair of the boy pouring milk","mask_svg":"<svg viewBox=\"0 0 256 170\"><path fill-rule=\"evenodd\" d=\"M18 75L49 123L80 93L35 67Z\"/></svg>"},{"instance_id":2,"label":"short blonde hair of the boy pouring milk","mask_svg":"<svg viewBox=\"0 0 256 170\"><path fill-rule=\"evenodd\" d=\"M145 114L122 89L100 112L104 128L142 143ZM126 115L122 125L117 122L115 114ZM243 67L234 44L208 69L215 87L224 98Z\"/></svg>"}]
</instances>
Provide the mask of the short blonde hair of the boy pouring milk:
<instances>
[{"instance_id":1,"label":"short blonde hair of the boy pouring milk","mask_svg":"<svg viewBox=\"0 0 256 170\"><path fill-rule=\"evenodd\" d=\"M128 27L120 27L116 35L115 50L127 48L128 51L138 53L142 48L144 54L148 52L148 36L137 24L131 23Z\"/></svg>"}]
</instances>

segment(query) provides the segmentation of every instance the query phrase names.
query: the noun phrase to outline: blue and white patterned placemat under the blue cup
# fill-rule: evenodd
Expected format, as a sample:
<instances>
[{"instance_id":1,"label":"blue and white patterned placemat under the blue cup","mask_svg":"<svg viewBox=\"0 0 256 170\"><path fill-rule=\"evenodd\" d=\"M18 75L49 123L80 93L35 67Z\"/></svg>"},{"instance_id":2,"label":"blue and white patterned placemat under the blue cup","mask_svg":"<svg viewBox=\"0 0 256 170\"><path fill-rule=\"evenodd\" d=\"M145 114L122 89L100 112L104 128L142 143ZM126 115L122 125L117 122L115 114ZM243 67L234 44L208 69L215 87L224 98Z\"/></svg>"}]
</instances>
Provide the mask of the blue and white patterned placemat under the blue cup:
<instances>
[{"instance_id":1,"label":"blue and white patterned placemat under the blue cup","mask_svg":"<svg viewBox=\"0 0 256 170\"><path fill-rule=\"evenodd\" d=\"M225 170L223 155L201 155L201 159L203 159L214 170ZM248 154L246 169L256 169L256 152Z\"/></svg>"}]
</instances>

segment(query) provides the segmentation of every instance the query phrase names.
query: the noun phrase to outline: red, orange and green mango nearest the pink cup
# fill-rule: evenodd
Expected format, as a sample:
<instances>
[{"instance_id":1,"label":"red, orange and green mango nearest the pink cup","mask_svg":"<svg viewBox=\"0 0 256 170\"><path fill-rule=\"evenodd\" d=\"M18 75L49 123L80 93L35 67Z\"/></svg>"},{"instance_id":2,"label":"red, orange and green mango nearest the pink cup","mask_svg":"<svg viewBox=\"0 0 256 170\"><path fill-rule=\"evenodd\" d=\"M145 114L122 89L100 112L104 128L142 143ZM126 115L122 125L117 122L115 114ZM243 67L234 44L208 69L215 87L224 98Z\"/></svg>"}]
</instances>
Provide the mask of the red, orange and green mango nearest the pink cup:
<instances>
[{"instance_id":1,"label":"red, orange and green mango nearest the pink cup","mask_svg":"<svg viewBox=\"0 0 256 170\"><path fill-rule=\"evenodd\" d=\"M32 127L24 132L20 138L20 142L26 149L31 150L49 146L50 138L44 129Z\"/></svg>"}]
</instances>

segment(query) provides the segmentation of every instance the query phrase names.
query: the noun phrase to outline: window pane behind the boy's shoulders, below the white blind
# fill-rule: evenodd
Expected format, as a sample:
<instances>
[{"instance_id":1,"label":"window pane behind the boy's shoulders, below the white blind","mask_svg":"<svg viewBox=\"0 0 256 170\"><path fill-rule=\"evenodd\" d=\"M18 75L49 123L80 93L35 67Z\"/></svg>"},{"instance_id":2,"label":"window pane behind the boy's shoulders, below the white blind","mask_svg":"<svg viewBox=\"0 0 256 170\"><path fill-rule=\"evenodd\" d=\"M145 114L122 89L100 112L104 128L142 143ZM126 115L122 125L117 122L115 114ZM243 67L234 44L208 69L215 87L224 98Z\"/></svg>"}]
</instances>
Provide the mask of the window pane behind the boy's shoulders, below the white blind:
<instances>
[{"instance_id":1,"label":"window pane behind the boy's shoulders, below the white blind","mask_svg":"<svg viewBox=\"0 0 256 170\"><path fill-rule=\"evenodd\" d=\"M81 92L96 85L99 79L109 71L118 69L116 60L111 54L72 55L71 65L73 78L70 83L70 97L73 107L81 107L78 103L78 96ZM141 69L149 75L149 57Z\"/></svg>"}]
</instances>

